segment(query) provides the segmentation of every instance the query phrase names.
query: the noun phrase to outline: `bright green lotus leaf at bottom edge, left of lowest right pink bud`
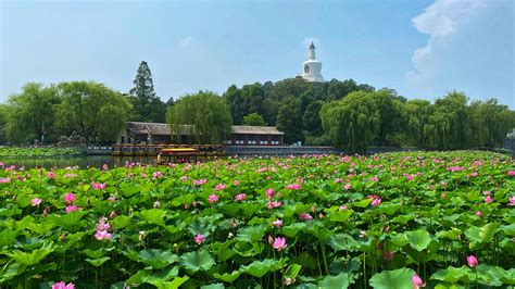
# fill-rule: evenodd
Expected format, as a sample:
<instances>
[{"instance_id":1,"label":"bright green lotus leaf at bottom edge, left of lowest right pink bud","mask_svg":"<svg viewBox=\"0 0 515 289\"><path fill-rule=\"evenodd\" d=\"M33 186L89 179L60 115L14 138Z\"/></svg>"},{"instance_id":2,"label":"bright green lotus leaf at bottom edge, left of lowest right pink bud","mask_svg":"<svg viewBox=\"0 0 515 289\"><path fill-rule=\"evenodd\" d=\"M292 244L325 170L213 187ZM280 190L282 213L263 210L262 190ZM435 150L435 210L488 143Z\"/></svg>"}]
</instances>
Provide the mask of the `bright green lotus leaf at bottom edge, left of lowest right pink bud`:
<instances>
[{"instance_id":1,"label":"bright green lotus leaf at bottom edge, left of lowest right pink bud","mask_svg":"<svg viewBox=\"0 0 515 289\"><path fill-rule=\"evenodd\" d=\"M413 275L411 268L384 271L372 276L369 285L377 289L412 289Z\"/></svg>"}]
</instances>

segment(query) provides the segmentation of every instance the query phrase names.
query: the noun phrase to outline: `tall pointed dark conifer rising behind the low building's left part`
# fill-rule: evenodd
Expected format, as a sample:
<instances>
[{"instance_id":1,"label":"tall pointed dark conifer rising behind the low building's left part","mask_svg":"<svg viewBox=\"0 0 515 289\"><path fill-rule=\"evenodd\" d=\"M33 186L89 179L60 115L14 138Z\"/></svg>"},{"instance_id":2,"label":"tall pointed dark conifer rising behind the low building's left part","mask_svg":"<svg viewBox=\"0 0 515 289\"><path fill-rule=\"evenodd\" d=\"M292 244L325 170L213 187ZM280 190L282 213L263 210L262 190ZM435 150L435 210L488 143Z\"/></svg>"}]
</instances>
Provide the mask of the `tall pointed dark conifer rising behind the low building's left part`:
<instances>
[{"instance_id":1,"label":"tall pointed dark conifer rising behind the low building's left part","mask_svg":"<svg viewBox=\"0 0 515 289\"><path fill-rule=\"evenodd\" d=\"M166 104L155 95L152 73L146 61L141 61L134 88L130 89L129 100L133 104L131 121L164 123Z\"/></svg>"}]
</instances>

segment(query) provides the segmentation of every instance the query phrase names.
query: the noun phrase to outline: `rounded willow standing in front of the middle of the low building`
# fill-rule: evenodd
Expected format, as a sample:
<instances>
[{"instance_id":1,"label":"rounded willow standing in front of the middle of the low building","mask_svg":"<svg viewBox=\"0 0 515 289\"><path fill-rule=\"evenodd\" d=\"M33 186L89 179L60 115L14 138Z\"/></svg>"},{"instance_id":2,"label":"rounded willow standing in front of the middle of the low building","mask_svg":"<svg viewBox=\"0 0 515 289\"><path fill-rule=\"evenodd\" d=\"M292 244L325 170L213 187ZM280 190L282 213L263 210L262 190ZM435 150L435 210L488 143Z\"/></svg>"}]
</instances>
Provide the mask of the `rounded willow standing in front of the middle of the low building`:
<instances>
[{"instance_id":1,"label":"rounded willow standing in front of the middle of the low building","mask_svg":"<svg viewBox=\"0 0 515 289\"><path fill-rule=\"evenodd\" d=\"M188 134L196 143L222 143L233 124L226 101L209 91L180 98L168 108L166 121L175 141L179 141L179 135Z\"/></svg>"}]
</instances>

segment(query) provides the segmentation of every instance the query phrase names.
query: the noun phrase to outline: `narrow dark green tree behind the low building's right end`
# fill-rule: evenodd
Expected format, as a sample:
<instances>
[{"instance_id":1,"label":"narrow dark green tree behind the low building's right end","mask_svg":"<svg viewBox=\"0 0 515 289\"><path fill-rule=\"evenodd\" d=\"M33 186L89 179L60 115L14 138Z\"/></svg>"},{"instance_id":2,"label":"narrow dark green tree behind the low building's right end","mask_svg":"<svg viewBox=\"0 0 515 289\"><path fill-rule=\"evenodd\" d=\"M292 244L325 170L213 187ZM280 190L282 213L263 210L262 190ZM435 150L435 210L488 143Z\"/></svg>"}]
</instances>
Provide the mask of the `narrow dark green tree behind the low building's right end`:
<instances>
[{"instance_id":1,"label":"narrow dark green tree behind the low building's right end","mask_svg":"<svg viewBox=\"0 0 515 289\"><path fill-rule=\"evenodd\" d=\"M302 133L302 111L300 109L300 100L294 97L286 98L277 115L277 129L285 131L285 142L293 143L296 141L304 141Z\"/></svg>"}]
</instances>

